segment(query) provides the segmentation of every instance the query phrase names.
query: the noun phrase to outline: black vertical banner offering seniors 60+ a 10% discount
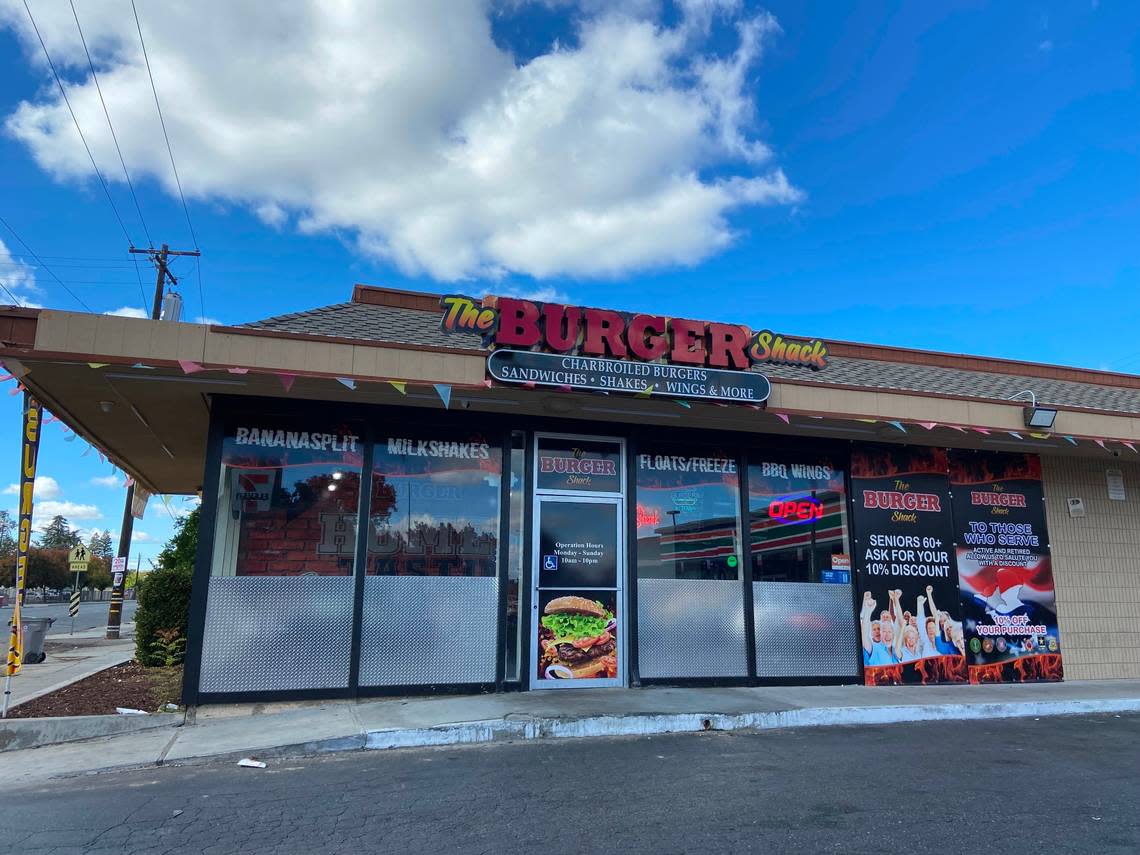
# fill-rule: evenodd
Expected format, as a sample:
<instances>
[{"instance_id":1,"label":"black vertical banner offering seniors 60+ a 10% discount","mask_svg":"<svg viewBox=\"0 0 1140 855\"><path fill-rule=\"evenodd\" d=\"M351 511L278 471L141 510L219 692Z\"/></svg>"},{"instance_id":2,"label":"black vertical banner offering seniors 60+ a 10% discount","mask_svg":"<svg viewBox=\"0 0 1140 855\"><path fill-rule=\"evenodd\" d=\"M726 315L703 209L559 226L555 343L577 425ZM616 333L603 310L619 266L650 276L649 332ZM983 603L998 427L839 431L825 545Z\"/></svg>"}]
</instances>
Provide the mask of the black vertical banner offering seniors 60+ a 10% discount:
<instances>
[{"instance_id":1,"label":"black vertical banner offering seniors 60+ a 10% discount","mask_svg":"<svg viewBox=\"0 0 1140 855\"><path fill-rule=\"evenodd\" d=\"M866 685L966 682L945 449L852 453Z\"/></svg>"}]
</instances>

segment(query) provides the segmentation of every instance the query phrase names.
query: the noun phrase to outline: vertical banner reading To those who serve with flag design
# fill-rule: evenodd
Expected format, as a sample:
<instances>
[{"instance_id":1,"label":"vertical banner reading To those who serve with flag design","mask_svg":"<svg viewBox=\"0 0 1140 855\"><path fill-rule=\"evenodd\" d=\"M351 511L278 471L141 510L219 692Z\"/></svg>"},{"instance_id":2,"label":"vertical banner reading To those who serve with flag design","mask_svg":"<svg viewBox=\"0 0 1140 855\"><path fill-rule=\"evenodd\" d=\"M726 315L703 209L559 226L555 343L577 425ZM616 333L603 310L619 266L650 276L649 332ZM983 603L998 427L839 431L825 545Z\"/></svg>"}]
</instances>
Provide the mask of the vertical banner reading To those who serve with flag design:
<instances>
[{"instance_id":1,"label":"vertical banner reading To those who serve with flag design","mask_svg":"<svg viewBox=\"0 0 1140 855\"><path fill-rule=\"evenodd\" d=\"M1061 679L1041 458L953 451L950 472L970 682Z\"/></svg>"}]
</instances>

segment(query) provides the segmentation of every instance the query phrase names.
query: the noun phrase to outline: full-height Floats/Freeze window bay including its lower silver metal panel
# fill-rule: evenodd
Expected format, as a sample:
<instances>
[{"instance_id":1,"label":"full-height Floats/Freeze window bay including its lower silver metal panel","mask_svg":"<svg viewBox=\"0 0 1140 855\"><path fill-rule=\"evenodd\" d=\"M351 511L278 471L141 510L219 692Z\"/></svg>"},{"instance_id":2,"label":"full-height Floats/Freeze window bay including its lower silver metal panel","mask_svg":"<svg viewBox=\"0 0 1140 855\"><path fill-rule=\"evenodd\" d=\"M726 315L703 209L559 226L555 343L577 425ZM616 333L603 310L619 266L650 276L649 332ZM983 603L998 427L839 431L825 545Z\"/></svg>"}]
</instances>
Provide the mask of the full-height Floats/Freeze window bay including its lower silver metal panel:
<instances>
[{"instance_id":1,"label":"full-height Floats/Freeze window bay including its lower silver metal panel","mask_svg":"<svg viewBox=\"0 0 1140 855\"><path fill-rule=\"evenodd\" d=\"M746 676L740 472L719 449L637 449L642 677Z\"/></svg>"}]
</instances>

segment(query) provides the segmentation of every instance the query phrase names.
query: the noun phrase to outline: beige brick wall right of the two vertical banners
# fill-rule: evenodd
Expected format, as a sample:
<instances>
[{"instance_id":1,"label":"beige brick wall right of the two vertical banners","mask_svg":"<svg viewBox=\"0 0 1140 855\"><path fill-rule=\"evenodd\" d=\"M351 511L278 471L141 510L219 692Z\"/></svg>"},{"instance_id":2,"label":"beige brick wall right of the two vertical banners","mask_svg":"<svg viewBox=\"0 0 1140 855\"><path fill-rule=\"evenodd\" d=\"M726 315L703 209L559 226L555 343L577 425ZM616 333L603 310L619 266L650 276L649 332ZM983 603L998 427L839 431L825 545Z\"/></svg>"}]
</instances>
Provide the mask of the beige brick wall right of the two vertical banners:
<instances>
[{"instance_id":1,"label":"beige brick wall right of the two vertical banners","mask_svg":"<svg viewBox=\"0 0 1140 855\"><path fill-rule=\"evenodd\" d=\"M1042 462L1065 677L1140 678L1140 463ZM1108 498L1108 469L1124 472L1124 502ZM1084 518L1069 516L1070 497L1084 499Z\"/></svg>"}]
</instances>

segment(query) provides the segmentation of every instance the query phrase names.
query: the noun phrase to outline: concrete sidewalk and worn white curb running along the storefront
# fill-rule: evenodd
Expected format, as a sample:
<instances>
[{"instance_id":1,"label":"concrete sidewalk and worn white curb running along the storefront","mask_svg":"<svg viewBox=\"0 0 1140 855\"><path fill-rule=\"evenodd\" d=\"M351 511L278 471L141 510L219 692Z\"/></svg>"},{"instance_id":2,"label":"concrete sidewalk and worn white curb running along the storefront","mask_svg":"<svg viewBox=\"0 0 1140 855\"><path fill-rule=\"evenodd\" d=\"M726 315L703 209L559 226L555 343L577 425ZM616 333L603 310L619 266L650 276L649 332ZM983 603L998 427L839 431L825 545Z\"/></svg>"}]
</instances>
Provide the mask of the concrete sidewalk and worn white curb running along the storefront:
<instances>
[{"instance_id":1,"label":"concrete sidewalk and worn white curb running along the storefront","mask_svg":"<svg viewBox=\"0 0 1140 855\"><path fill-rule=\"evenodd\" d=\"M164 763L497 740L1140 712L1140 681L985 686L630 689L201 708L181 727L0 755L0 780Z\"/></svg>"}]
</instances>

